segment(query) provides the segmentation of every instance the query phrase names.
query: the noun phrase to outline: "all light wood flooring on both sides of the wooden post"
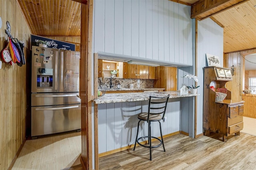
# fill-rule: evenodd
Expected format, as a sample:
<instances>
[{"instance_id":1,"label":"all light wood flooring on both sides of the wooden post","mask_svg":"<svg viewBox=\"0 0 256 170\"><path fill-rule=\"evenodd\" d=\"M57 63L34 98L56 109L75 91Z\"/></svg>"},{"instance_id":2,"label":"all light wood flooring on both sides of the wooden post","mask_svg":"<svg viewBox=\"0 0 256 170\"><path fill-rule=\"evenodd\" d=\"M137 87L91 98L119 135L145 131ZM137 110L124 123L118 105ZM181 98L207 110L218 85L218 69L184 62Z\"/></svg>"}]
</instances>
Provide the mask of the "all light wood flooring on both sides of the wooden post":
<instances>
[{"instance_id":1,"label":"all light wood flooring on both sides of the wooden post","mask_svg":"<svg viewBox=\"0 0 256 170\"><path fill-rule=\"evenodd\" d=\"M100 170L256 169L255 125L256 119L244 117L241 135L228 137L226 143L214 133L198 139L182 134L168 137L164 139L166 152L162 147L153 149L152 161L147 148L136 147L135 151L129 149L99 158ZM29 140L12 170L81 170L80 153L80 132Z\"/></svg>"}]
</instances>

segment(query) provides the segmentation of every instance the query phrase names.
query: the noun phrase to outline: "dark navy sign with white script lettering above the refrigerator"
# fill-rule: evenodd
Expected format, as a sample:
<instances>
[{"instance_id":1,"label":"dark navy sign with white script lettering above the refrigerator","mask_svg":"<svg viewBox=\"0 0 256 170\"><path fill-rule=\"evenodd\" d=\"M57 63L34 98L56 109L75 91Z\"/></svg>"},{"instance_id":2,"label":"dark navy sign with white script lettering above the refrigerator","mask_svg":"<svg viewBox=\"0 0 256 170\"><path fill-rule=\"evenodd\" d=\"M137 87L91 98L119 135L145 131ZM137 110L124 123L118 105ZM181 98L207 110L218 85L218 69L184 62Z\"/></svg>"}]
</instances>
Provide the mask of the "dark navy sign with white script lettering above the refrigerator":
<instances>
[{"instance_id":1,"label":"dark navy sign with white script lettering above the refrigerator","mask_svg":"<svg viewBox=\"0 0 256 170\"><path fill-rule=\"evenodd\" d=\"M75 44L67 43L64 41L58 41L55 39L45 38L37 35L31 35L31 49L32 49L32 46L36 46L36 42L39 40L46 41L48 48L76 51Z\"/></svg>"}]
</instances>

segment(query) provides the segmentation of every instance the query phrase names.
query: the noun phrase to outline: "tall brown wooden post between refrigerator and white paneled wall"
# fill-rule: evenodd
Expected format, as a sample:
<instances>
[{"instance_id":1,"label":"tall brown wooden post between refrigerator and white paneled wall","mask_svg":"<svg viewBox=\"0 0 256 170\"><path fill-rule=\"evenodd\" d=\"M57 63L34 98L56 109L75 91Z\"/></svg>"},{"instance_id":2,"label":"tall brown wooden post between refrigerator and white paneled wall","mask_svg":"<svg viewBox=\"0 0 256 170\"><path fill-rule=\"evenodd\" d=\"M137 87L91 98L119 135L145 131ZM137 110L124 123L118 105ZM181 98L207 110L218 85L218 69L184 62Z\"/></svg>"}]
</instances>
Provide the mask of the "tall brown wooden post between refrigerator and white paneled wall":
<instances>
[{"instance_id":1,"label":"tall brown wooden post between refrigerator and white paneled wall","mask_svg":"<svg viewBox=\"0 0 256 170\"><path fill-rule=\"evenodd\" d=\"M92 170L92 14L93 0L81 5L80 98L81 158L84 170Z\"/></svg>"}]
</instances>

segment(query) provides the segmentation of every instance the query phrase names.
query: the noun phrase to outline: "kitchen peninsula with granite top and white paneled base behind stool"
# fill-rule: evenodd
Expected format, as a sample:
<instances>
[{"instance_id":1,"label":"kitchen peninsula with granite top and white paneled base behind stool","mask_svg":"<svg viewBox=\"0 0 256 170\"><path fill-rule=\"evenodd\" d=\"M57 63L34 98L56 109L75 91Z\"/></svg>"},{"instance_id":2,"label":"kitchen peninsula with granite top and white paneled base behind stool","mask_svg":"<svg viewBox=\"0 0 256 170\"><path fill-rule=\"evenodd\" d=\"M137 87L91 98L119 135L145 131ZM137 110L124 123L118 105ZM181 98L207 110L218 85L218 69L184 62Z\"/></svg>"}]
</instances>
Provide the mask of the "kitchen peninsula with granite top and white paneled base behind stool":
<instances>
[{"instance_id":1,"label":"kitchen peninsula with granite top and white paneled base behind stool","mask_svg":"<svg viewBox=\"0 0 256 170\"><path fill-rule=\"evenodd\" d=\"M182 126L188 126L183 123L185 117L182 117L183 109L189 109L189 105L185 98L198 96L199 94L180 95L178 91L164 92L135 92L135 93L112 93L93 99L94 103L94 133L95 156L106 156L108 154L126 150L134 145L137 128L137 115L140 112L146 112L148 109L149 96L167 96L170 94L166 107L166 121L162 123L162 131L164 137L183 133ZM184 99L183 99L184 98ZM190 115L193 116L193 115ZM185 118L186 119L186 118ZM185 121L186 122L186 121ZM147 125L142 124L143 129L147 129ZM158 124L152 123L152 135L160 136ZM97 134L98 133L98 134ZM147 133L147 130L139 132L141 135ZM98 142L99 141L99 142Z\"/></svg>"}]
</instances>

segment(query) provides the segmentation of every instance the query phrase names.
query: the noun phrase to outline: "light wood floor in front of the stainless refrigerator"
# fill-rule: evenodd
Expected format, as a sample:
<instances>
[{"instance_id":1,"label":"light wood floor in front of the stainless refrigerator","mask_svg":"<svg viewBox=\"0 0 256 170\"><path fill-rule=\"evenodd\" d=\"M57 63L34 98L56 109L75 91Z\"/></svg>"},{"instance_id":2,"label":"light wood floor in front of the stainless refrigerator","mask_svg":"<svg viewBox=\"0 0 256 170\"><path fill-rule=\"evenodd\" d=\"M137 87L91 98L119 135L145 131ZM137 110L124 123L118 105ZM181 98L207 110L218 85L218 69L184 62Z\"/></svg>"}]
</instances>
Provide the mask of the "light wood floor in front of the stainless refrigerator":
<instances>
[{"instance_id":1,"label":"light wood floor in front of the stainless refrigerator","mask_svg":"<svg viewBox=\"0 0 256 170\"><path fill-rule=\"evenodd\" d=\"M81 132L25 142L12 170L61 170L80 163Z\"/></svg>"}]
</instances>

